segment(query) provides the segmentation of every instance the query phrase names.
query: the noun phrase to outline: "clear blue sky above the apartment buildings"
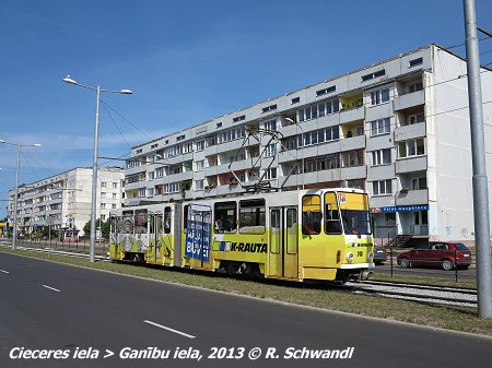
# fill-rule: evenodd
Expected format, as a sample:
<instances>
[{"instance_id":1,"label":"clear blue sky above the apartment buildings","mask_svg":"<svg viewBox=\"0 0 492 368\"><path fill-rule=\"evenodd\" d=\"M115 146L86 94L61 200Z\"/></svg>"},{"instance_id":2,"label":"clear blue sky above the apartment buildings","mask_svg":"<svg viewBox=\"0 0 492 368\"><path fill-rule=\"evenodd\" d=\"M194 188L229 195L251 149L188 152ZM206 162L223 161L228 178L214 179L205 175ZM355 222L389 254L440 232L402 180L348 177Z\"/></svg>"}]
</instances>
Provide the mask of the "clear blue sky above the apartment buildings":
<instances>
[{"instance_id":1,"label":"clear blue sky above the apartment buildings","mask_svg":"<svg viewBox=\"0 0 492 368\"><path fill-rule=\"evenodd\" d=\"M476 3L491 32L492 1ZM95 93L62 83L67 74L133 91L102 96L99 155L116 157L431 43L461 44L464 29L460 0L2 0L0 139L43 144L23 149L20 182L31 182L92 165ZM480 47L492 62L492 40ZM0 145L0 200L15 154Z\"/></svg>"}]
</instances>

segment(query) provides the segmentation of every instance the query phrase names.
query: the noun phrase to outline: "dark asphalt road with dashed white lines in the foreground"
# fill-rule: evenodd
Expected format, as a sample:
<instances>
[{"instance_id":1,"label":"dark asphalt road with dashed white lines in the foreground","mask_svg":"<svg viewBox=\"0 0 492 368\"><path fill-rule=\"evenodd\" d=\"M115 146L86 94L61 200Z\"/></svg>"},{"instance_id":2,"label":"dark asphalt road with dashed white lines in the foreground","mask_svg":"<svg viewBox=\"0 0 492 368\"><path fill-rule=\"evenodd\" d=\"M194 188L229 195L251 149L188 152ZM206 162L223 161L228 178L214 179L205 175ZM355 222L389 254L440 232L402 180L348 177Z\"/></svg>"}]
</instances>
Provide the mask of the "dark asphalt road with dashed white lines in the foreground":
<instances>
[{"instance_id":1,"label":"dark asphalt road with dashed white lines in the foreground","mask_svg":"<svg viewBox=\"0 0 492 368\"><path fill-rule=\"evenodd\" d=\"M492 349L492 340L481 336L1 252L0 289L0 367L487 367ZM60 351L61 358L19 358L21 347L23 354L27 349ZM119 355L126 347L156 347L164 354L169 351L169 357L124 359ZM231 358L209 358L214 347L225 348L218 349L216 357ZM251 360L256 347L261 349L260 358ZM285 358L303 347L353 351L344 353L352 352L350 359ZM93 358L73 357L89 348ZM202 356L199 361L192 359L194 351L187 353L190 348ZM270 351L273 358L265 358L268 348L274 348ZM106 349L115 355L103 358ZM178 358L178 354L188 358Z\"/></svg>"}]
</instances>

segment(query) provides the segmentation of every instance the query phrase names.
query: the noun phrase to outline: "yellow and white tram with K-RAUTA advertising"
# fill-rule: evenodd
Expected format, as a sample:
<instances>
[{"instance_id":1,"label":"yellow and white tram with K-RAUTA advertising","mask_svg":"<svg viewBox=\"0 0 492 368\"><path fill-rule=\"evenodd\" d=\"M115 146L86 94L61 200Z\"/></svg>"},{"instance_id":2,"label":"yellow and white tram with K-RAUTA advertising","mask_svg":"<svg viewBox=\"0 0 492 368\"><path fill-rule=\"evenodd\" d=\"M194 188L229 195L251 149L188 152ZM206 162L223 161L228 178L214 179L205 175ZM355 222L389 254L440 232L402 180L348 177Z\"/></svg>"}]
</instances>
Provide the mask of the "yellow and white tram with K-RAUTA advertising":
<instances>
[{"instance_id":1,"label":"yellow and white tram with K-RAUTA advertising","mask_svg":"<svg viewBox=\"0 0 492 368\"><path fill-rule=\"evenodd\" d=\"M292 281L365 278L374 241L366 192L313 189L124 207L112 260Z\"/></svg>"}]
</instances>

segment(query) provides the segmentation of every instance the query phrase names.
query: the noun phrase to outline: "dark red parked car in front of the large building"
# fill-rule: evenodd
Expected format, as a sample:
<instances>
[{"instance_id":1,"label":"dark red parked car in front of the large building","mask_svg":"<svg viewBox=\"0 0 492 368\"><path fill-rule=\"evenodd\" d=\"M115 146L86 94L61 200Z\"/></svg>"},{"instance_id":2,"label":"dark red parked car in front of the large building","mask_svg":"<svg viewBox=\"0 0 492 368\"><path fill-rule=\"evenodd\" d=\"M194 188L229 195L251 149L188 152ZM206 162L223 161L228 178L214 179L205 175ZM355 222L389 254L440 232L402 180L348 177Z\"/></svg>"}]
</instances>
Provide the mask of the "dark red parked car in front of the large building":
<instances>
[{"instance_id":1,"label":"dark red parked car in front of the large building","mask_svg":"<svg viewBox=\"0 0 492 368\"><path fill-rule=\"evenodd\" d=\"M403 269L409 266L442 266L449 271L455 266L468 269L471 264L471 252L461 242L429 241L415 249L400 253L397 263Z\"/></svg>"}]
</instances>

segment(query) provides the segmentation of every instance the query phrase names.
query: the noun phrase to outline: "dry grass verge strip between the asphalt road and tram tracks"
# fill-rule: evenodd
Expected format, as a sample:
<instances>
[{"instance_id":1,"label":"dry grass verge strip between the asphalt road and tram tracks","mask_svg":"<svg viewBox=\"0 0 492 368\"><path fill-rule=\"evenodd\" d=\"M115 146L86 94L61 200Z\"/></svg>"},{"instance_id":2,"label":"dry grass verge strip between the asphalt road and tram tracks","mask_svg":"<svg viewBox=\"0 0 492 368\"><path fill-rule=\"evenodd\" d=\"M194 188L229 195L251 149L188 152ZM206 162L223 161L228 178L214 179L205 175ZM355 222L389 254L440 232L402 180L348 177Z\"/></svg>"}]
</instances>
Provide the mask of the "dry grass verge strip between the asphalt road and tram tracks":
<instances>
[{"instance_id":1,"label":"dry grass verge strip between the asphalt road and tram tracks","mask_svg":"<svg viewBox=\"0 0 492 368\"><path fill-rule=\"evenodd\" d=\"M9 253L13 252L8 248L0 248L0 251ZM15 253L48 259L48 254L46 253L23 250L16 250ZM218 274L183 272L163 268L133 266L101 261L90 263L87 259L69 258L57 254L51 254L50 260L119 274L192 285L239 295L249 295L295 305L492 335L492 320L478 318L477 308L471 307L432 306L415 301L354 295L337 288L324 286L314 287L297 283L288 284L273 281L245 281ZM412 281L414 281L414 276L411 276Z\"/></svg>"}]
</instances>

